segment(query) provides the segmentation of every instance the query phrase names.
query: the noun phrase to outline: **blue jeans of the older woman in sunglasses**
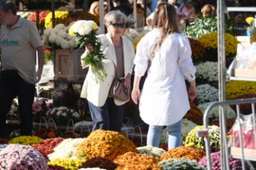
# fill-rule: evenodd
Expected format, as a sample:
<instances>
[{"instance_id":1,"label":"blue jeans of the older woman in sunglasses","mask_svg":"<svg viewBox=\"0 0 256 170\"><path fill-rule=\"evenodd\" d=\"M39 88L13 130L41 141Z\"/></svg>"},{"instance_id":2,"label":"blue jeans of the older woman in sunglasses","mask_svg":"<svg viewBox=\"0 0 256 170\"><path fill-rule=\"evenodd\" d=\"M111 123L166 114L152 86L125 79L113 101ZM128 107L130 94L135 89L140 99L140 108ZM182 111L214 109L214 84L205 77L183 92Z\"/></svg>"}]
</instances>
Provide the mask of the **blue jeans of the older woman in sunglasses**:
<instances>
[{"instance_id":1,"label":"blue jeans of the older woman in sunglasses","mask_svg":"<svg viewBox=\"0 0 256 170\"><path fill-rule=\"evenodd\" d=\"M121 132L124 106L117 106L114 98L107 98L102 107L97 107L88 101L92 116L92 130L112 130Z\"/></svg>"}]
</instances>

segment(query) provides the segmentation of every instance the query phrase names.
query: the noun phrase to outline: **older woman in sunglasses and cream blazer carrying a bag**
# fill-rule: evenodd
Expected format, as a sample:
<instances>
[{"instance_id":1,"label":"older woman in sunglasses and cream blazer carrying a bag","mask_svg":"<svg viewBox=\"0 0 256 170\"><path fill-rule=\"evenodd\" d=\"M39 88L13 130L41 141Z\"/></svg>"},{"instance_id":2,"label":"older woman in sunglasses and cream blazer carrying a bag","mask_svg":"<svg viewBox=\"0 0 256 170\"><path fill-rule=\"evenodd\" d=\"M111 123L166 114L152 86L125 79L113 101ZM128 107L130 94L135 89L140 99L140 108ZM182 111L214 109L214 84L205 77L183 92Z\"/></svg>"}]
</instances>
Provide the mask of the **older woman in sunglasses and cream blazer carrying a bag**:
<instances>
[{"instance_id":1,"label":"older woman in sunglasses and cream blazer carrying a bag","mask_svg":"<svg viewBox=\"0 0 256 170\"><path fill-rule=\"evenodd\" d=\"M102 52L106 60L102 61L107 77L100 82L95 80L95 73L89 68L82 86L81 97L87 98L92 116L92 130L113 130L120 132L123 120L123 105L126 101L119 101L110 96L110 86L117 78L124 78L124 86L131 86L131 74L134 60L132 42L123 37L126 26L126 16L119 11L110 11L104 18L107 27L106 34L98 35L102 42ZM85 46L85 52L94 50L92 45ZM87 67L83 62L82 67ZM116 69L115 69L116 67ZM116 72L115 72L116 71Z\"/></svg>"}]
</instances>

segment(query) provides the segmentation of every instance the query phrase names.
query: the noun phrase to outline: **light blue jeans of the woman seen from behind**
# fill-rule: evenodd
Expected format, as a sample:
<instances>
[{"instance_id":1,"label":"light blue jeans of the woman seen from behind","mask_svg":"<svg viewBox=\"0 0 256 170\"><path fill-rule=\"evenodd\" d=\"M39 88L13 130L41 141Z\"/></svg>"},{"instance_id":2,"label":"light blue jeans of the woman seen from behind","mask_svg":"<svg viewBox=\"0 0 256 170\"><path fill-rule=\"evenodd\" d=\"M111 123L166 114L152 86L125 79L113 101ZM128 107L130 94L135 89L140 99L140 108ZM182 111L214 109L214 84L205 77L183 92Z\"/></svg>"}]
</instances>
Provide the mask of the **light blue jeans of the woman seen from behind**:
<instances>
[{"instance_id":1,"label":"light blue jeans of the woman seen from behind","mask_svg":"<svg viewBox=\"0 0 256 170\"><path fill-rule=\"evenodd\" d=\"M166 128L169 134L168 148L173 149L174 147L181 146L182 120L179 120L177 123L174 123L173 125L167 125ZM146 137L146 145L159 147L162 129L163 126L149 125L149 131Z\"/></svg>"}]
</instances>

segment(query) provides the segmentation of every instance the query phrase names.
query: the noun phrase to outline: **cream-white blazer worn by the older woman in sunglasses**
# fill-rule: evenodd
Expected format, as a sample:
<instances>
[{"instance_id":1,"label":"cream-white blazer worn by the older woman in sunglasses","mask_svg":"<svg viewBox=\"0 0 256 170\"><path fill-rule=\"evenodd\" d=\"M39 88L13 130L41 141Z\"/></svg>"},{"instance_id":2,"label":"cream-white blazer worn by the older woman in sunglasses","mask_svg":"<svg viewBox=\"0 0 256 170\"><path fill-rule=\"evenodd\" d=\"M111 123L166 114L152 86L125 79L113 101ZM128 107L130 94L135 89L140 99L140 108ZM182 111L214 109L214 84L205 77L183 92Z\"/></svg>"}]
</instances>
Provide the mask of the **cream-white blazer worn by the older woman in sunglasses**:
<instances>
[{"instance_id":1,"label":"cream-white blazer worn by the older woman in sunglasses","mask_svg":"<svg viewBox=\"0 0 256 170\"><path fill-rule=\"evenodd\" d=\"M97 38L99 38L100 42L102 42L102 52L107 58L106 60L102 61L102 65L107 72L107 77L103 81L96 82L95 74L93 73L92 68L89 66L89 71L85 78L84 84L82 85L81 98L87 98L87 101L90 101L97 107L101 107L107 100L110 86L114 79L114 64L117 64L117 56L115 54L114 45L109 33L97 35ZM125 37L122 37L122 46L124 54L124 77L126 77L127 74L132 74L132 69L134 67L134 46L132 41ZM114 98L114 103L117 106L120 106L126 102L127 101L119 101L117 98Z\"/></svg>"}]
</instances>

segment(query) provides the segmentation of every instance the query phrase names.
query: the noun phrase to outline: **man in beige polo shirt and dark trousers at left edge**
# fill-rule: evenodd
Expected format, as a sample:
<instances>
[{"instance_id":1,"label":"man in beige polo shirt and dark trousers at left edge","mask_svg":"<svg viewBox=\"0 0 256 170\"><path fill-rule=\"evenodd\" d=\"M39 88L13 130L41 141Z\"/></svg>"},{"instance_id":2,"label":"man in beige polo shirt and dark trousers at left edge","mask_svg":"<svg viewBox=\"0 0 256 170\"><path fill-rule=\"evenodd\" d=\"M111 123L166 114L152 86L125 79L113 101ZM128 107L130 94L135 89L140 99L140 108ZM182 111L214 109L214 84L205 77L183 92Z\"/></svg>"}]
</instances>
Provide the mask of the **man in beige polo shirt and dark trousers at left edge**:
<instances>
[{"instance_id":1,"label":"man in beige polo shirt and dark trousers at left edge","mask_svg":"<svg viewBox=\"0 0 256 170\"><path fill-rule=\"evenodd\" d=\"M6 137L6 115L16 96L21 114L21 135L32 135L35 84L41 79L45 61L43 42L36 25L16 15L12 0L0 1L0 21L0 137Z\"/></svg>"}]
</instances>

